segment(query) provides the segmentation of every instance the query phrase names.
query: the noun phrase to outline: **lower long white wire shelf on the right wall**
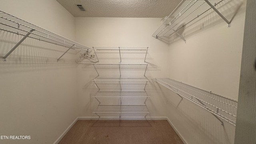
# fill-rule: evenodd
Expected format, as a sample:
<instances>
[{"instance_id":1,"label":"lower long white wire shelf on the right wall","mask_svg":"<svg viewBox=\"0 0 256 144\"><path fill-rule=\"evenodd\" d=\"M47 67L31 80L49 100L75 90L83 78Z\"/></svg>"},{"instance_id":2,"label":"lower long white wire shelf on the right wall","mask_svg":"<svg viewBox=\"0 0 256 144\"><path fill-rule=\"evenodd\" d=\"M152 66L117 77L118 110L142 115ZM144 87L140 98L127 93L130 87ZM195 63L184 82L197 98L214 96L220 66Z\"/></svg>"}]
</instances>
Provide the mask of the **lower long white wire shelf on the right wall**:
<instances>
[{"instance_id":1,"label":"lower long white wire shelf on the right wall","mask_svg":"<svg viewBox=\"0 0 256 144\"><path fill-rule=\"evenodd\" d=\"M237 101L171 80L169 78L156 78L153 80L176 92L178 95L190 100L194 104L208 110L218 118L218 120L221 118L236 126Z\"/></svg>"}]
</instances>

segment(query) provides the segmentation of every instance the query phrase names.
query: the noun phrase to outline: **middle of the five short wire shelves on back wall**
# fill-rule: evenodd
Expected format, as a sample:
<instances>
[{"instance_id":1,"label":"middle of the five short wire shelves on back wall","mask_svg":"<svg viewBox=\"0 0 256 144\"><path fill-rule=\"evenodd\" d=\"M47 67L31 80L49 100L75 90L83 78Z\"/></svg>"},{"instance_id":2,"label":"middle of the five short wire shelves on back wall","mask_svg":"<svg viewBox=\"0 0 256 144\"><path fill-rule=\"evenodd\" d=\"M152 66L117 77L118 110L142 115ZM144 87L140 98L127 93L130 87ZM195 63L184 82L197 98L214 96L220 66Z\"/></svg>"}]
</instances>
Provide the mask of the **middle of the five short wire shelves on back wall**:
<instances>
[{"instance_id":1,"label":"middle of the five short wire shelves on back wall","mask_svg":"<svg viewBox=\"0 0 256 144\"><path fill-rule=\"evenodd\" d=\"M149 80L147 78L95 78L94 83L103 84L144 84Z\"/></svg>"}]
</instances>

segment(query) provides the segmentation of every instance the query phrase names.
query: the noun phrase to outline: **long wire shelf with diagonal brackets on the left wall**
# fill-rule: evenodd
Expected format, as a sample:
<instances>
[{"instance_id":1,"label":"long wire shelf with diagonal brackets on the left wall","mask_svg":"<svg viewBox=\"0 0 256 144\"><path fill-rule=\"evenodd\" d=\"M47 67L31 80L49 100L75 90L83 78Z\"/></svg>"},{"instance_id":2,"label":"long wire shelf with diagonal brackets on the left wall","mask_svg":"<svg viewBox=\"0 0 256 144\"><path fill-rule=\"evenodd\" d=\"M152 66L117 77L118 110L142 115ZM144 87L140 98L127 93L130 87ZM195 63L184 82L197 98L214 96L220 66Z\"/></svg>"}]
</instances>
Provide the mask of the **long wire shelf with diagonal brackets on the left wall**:
<instances>
[{"instance_id":1,"label":"long wire shelf with diagonal brackets on the left wall","mask_svg":"<svg viewBox=\"0 0 256 144\"><path fill-rule=\"evenodd\" d=\"M0 10L0 30L4 30L7 32L11 32L14 34L18 34L21 36L24 36L4 57L3 61L6 62L6 58L27 38L34 38L40 41L56 44L59 46L63 46L68 48L66 52L70 49L80 49L80 50L88 50L91 48L88 48L86 46L83 46L82 44L79 44L77 42L74 42L73 40L70 40L68 38L64 38L63 36L60 36L58 34L55 34L53 32L50 32L44 28L41 28L39 26L36 26L34 24L31 24L30 22L26 22L25 20L22 20L20 18L17 18L15 16L12 16L6 12L3 12ZM64 52L64 54L66 54ZM64 56L62 54L62 56ZM62 58L60 56L60 58Z\"/></svg>"}]
</instances>

